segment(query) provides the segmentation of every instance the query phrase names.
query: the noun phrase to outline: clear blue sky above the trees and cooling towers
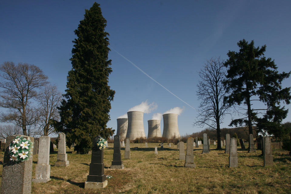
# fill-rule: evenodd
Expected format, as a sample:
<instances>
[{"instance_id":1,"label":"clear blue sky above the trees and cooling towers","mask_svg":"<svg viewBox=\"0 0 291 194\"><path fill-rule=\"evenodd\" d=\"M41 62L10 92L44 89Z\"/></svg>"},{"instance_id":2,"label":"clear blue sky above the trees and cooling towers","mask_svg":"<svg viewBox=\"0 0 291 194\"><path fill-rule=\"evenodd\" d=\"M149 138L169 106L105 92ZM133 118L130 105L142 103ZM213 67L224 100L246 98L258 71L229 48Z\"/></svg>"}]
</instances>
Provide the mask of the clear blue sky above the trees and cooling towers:
<instances>
[{"instance_id":1,"label":"clear blue sky above the trees and cooling towers","mask_svg":"<svg viewBox=\"0 0 291 194\"><path fill-rule=\"evenodd\" d=\"M49 81L66 89L69 61L76 38L74 30L94 1L1 1L0 63L26 62L39 66ZM198 72L207 59L238 51L241 39L266 44L266 57L275 60L279 72L291 70L290 1L99 1L107 20L106 32L112 59L109 85L115 90L109 127L131 107L148 100L163 113L184 107L178 116L181 135L201 130L193 127L197 112L134 65L194 108ZM116 50L117 52L115 52ZM290 78L283 87L290 86ZM286 106L290 109L290 105ZM283 122L291 120L290 114ZM228 127L226 117L222 127ZM161 122L161 130L163 124Z\"/></svg>"}]
</instances>

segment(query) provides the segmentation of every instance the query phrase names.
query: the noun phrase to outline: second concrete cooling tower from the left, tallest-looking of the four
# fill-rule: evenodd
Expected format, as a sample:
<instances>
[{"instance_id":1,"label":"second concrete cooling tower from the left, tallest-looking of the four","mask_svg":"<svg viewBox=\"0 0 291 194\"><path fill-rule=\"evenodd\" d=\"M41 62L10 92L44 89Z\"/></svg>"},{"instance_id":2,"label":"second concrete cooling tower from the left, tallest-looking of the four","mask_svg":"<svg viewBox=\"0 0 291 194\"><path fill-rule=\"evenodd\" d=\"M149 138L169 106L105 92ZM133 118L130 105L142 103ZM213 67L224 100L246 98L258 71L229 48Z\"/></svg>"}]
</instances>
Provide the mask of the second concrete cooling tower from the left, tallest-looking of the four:
<instances>
[{"instance_id":1,"label":"second concrete cooling tower from the left, tallest-looking of the four","mask_svg":"<svg viewBox=\"0 0 291 194\"><path fill-rule=\"evenodd\" d=\"M146 138L145 129L143 127L143 112L129 111L127 112L128 126L126 138L134 140L136 138Z\"/></svg>"}]
</instances>

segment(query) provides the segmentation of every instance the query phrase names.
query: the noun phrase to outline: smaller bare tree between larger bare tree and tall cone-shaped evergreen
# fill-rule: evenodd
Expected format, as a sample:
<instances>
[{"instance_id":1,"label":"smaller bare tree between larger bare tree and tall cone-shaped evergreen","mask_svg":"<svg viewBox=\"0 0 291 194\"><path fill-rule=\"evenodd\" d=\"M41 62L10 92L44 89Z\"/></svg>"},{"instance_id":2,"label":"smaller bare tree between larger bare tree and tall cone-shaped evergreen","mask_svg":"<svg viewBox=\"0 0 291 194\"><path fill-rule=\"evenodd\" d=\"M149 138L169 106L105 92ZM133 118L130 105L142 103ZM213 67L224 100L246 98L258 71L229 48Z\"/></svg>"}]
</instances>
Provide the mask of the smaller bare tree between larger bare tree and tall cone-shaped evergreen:
<instances>
[{"instance_id":1,"label":"smaller bare tree between larger bare tree and tall cone-shaped evergreen","mask_svg":"<svg viewBox=\"0 0 291 194\"><path fill-rule=\"evenodd\" d=\"M46 85L41 95L38 96L38 135L48 136L55 132L52 126L53 120L59 121L60 114L57 109L61 105L62 95L55 85Z\"/></svg>"}]
</instances>

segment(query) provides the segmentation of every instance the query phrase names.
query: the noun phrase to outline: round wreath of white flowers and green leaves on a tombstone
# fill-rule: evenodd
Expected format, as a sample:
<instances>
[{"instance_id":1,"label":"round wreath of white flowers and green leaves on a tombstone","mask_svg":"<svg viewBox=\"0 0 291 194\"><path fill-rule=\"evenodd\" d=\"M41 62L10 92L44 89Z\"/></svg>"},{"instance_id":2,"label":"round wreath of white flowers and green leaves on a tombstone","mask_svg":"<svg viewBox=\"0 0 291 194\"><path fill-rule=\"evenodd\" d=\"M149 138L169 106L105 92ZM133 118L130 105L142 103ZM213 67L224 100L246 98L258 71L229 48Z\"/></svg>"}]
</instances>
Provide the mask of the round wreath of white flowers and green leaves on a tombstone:
<instances>
[{"instance_id":1,"label":"round wreath of white flowers and green leaves on a tombstone","mask_svg":"<svg viewBox=\"0 0 291 194\"><path fill-rule=\"evenodd\" d=\"M15 163L24 162L31 158L33 143L23 136L16 136L9 146L10 160Z\"/></svg>"}]
</instances>

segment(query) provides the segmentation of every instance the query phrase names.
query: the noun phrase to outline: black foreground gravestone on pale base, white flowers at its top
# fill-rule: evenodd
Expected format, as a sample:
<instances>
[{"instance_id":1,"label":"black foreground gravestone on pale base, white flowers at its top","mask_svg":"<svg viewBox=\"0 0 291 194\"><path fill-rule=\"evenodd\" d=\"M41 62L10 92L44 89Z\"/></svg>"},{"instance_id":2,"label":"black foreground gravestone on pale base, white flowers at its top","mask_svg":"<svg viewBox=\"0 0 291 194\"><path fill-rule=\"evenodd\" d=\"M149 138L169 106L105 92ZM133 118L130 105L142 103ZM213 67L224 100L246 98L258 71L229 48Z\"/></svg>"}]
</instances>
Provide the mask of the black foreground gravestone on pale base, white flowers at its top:
<instances>
[{"instance_id":1,"label":"black foreground gravestone on pale base, white flowers at its top","mask_svg":"<svg viewBox=\"0 0 291 194\"><path fill-rule=\"evenodd\" d=\"M97 136L92 142L92 155L91 163L89 167L89 175L87 176L87 181L85 182L85 189L99 189L107 186L106 176L104 175L104 162L103 155L104 149L99 149L97 142L99 140ZM119 143L118 143L119 144Z\"/></svg>"}]
</instances>

